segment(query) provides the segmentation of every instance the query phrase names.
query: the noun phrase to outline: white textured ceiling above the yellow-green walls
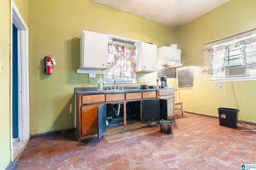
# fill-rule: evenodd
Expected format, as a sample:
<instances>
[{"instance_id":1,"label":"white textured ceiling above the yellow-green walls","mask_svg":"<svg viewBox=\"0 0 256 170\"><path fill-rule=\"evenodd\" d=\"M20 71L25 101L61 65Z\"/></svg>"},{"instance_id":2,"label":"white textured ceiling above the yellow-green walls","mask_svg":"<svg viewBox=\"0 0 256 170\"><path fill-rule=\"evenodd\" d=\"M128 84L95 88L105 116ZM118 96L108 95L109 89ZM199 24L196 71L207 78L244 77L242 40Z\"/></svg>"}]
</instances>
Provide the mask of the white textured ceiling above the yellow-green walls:
<instances>
[{"instance_id":1,"label":"white textured ceiling above the yellow-green walls","mask_svg":"<svg viewBox=\"0 0 256 170\"><path fill-rule=\"evenodd\" d=\"M178 28L229 0L92 0Z\"/></svg>"}]
</instances>

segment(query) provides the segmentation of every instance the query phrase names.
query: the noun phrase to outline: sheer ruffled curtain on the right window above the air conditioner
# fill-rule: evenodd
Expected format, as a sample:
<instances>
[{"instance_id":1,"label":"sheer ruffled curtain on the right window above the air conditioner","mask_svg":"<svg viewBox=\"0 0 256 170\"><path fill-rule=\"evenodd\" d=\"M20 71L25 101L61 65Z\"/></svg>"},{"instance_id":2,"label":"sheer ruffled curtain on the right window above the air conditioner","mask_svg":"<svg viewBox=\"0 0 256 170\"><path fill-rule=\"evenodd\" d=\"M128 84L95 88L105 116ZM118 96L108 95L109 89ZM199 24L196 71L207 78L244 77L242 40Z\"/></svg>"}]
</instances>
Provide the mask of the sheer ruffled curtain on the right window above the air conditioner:
<instances>
[{"instance_id":1,"label":"sheer ruffled curtain on the right window above the air conditioner","mask_svg":"<svg viewBox=\"0 0 256 170\"><path fill-rule=\"evenodd\" d=\"M204 69L201 73L224 72L228 49L239 47L239 61L245 68L256 68L256 28L204 44ZM251 37L252 36L252 37ZM236 41L237 40L237 41ZM228 45L221 45L228 43Z\"/></svg>"}]
</instances>

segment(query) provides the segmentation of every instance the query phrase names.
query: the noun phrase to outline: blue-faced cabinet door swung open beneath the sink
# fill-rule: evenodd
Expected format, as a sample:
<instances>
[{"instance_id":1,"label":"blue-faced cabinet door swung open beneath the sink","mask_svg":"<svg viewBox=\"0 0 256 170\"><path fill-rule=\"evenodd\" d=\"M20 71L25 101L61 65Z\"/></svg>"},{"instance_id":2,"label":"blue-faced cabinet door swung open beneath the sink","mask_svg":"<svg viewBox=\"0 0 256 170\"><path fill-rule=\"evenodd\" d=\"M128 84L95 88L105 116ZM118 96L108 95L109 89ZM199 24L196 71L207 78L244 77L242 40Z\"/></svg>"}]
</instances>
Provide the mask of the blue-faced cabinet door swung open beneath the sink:
<instances>
[{"instance_id":1,"label":"blue-faced cabinet door swung open beneath the sink","mask_svg":"<svg viewBox=\"0 0 256 170\"><path fill-rule=\"evenodd\" d=\"M106 104L98 106L98 139L100 139L106 131Z\"/></svg>"}]
</instances>

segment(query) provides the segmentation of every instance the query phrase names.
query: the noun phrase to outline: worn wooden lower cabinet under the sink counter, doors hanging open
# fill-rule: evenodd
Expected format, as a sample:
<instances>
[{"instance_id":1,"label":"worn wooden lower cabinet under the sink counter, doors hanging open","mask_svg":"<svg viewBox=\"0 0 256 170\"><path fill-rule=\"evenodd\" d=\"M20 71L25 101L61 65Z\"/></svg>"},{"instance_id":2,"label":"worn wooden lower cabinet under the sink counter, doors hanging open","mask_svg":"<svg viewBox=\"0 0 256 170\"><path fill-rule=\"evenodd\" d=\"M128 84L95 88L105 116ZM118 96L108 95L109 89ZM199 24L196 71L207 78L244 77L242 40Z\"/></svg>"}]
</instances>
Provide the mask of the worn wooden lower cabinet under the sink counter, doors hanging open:
<instances>
[{"instance_id":1,"label":"worn wooden lower cabinet under the sink counter, doors hanging open","mask_svg":"<svg viewBox=\"0 0 256 170\"><path fill-rule=\"evenodd\" d=\"M76 94L78 140L95 137L97 134L100 139L105 132L114 134L149 126L152 122L160 121L160 117L167 117L167 110L169 114L173 107L172 102L173 98L158 98L156 90L119 94Z\"/></svg>"}]
</instances>

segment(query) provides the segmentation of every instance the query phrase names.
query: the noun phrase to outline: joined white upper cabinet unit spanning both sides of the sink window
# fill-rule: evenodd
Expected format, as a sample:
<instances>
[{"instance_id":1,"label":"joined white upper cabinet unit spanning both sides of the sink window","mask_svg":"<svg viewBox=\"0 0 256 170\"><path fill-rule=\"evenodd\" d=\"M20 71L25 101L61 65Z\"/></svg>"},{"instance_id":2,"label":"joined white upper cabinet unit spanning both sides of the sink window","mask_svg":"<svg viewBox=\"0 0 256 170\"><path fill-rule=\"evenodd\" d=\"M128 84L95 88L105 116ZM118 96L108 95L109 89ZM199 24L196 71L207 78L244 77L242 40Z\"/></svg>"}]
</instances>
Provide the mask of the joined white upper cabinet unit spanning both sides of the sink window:
<instances>
[{"instance_id":1,"label":"joined white upper cabinet unit spanning both sides of the sink window","mask_svg":"<svg viewBox=\"0 0 256 170\"><path fill-rule=\"evenodd\" d=\"M142 41L83 30L80 37L80 68L77 73L104 74L108 66L108 43L118 42L136 47L136 71L156 72L157 45Z\"/></svg>"}]
</instances>

